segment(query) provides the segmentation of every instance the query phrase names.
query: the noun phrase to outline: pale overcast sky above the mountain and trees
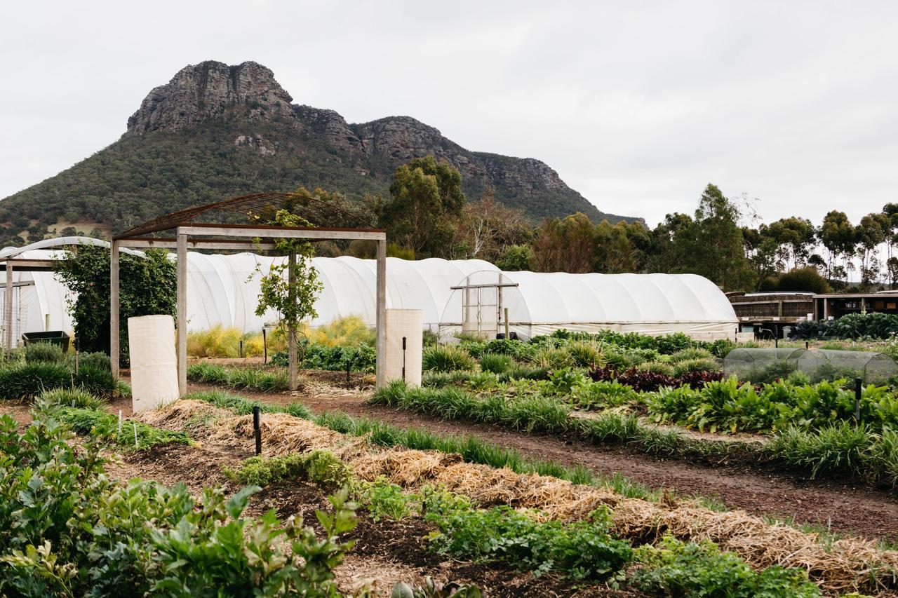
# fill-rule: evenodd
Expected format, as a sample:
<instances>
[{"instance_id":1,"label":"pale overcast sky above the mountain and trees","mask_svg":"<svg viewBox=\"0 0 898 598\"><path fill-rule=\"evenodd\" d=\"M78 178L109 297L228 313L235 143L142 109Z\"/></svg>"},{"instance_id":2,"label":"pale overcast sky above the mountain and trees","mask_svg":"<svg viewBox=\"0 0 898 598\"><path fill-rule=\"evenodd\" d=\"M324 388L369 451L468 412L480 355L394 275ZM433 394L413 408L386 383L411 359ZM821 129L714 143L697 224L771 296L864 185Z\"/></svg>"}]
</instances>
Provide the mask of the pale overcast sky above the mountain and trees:
<instances>
[{"instance_id":1,"label":"pale overcast sky above the mountain and trees","mask_svg":"<svg viewBox=\"0 0 898 598\"><path fill-rule=\"evenodd\" d=\"M539 158L649 224L708 182L765 221L898 201L896 2L32 1L4 4L0 31L0 198L214 59L269 66L349 122L409 115Z\"/></svg>"}]
</instances>

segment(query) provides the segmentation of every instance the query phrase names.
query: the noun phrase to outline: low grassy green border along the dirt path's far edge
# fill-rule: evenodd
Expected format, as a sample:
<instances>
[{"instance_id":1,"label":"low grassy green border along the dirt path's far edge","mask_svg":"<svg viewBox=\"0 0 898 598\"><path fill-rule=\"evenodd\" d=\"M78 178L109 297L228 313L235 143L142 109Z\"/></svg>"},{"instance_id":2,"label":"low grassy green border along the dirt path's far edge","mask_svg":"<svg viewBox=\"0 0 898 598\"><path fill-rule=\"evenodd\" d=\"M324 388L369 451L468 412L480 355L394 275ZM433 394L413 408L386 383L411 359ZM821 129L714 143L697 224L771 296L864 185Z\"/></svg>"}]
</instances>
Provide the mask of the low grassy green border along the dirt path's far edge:
<instances>
[{"instance_id":1,"label":"low grassy green border along the dirt path's far edge","mask_svg":"<svg viewBox=\"0 0 898 598\"><path fill-rule=\"evenodd\" d=\"M874 395L871 392L871 404ZM427 389L396 381L376 391L370 402L438 418L494 423L523 432L570 433L596 443L627 443L647 453L698 458L751 453L759 462L782 462L807 470L814 477L853 476L891 487L898 483L898 443L890 427L876 431L850 422L824 423L816 429L790 426L774 435L769 444L718 443L647 426L640 423L638 416L616 409L592 418L571 417L568 404L539 394L493 392L479 396L452 386ZM786 442L786 438L791 440Z\"/></svg>"}]
</instances>

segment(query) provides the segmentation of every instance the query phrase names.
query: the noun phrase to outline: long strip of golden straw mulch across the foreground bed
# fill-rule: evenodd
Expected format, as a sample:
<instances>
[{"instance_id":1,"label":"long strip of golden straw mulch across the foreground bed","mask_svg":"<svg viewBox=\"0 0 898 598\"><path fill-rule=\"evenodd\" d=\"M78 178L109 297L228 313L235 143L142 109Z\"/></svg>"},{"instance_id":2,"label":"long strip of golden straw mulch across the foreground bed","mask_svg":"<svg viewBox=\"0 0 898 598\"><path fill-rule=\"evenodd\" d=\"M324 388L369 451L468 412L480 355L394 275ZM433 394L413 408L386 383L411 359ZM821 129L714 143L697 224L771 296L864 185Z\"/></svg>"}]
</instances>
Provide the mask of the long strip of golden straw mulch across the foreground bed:
<instances>
[{"instance_id":1,"label":"long strip of golden straw mulch across the foreground bed","mask_svg":"<svg viewBox=\"0 0 898 598\"><path fill-rule=\"evenodd\" d=\"M187 423L191 416L196 419L197 412L208 414L211 408L198 401L179 403L161 410L158 417L169 425ZM197 411L190 413L192 409ZM170 413L168 418L162 417L166 411ZM364 437L351 438L286 414L266 413L261 425L266 455L327 449L352 466L362 479L383 475L407 488L437 484L480 505L538 509L551 519L582 519L594 509L608 506L612 509L612 534L621 538L642 542L671 534L681 540L714 541L753 567L803 568L830 594L854 591L898 595L898 551L877 550L873 542L846 539L825 544L815 533L767 523L744 511L718 513L673 500L648 502L550 476L465 463L460 455L382 449L366 444ZM251 416L222 418L215 427L214 435L222 440L246 442L252 437Z\"/></svg>"}]
</instances>

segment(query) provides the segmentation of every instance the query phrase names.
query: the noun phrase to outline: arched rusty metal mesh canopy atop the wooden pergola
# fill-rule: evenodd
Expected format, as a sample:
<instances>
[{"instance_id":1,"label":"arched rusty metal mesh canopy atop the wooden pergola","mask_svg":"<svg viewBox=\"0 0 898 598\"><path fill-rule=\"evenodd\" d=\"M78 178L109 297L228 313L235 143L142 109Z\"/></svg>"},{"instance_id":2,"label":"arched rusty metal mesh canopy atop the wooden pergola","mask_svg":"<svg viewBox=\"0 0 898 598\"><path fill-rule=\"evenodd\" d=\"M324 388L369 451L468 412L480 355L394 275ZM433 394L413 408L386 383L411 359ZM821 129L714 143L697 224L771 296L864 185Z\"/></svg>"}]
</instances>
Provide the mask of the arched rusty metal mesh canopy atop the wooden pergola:
<instances>
[{"instance_id":1,"label":"arched rusty metal mesh canopy atop the wooden pergola","mask_svg":"<svg viewBox=\"0 0 898 598\"><path fill-rule=\"evenodd\" d=\"M233 226L235 228L251 228L251 217L253 215L259 215L266 210L272 209L289 209L293 214L304 217L310 224L315 227L321 227L323 230L342 230L343 228L361 229L366 231L376 230L374 228L375 223L373 215L368 215L357 210L348 210L333 202L315 198L312 195L298 193L254 193L239 198L217 201L204 206L188 207L178 212L161 215L144 224L138 224L124 233L115 235L113 240L118 241L120 239L128 239L138 235L160 233L188 224L200 224L196 222L196 219L200 215L215 215L216 212L244 215L246 216L246 220L242 223L219 222L215 224ZM332 228L334 226L339 226L340 229Z\"/></svg>"}]
</instances>

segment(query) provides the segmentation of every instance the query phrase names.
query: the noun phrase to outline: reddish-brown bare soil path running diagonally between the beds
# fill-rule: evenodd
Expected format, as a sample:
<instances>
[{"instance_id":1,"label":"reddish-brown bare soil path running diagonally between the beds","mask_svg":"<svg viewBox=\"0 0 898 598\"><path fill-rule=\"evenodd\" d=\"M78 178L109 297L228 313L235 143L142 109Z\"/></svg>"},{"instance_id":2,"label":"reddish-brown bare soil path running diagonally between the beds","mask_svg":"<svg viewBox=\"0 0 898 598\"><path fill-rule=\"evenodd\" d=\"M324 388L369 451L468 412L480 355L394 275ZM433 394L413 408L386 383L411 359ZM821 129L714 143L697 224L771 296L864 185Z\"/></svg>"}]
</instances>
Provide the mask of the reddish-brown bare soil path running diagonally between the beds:
<instances>
[{"instance_id":1,"label":"reddish-brown bare soil path running diagonally between the beds","mask_svg":"<svg viewBox=\"0 0 898 598\"><path fill-rule=\"evenodd\" d=\"M334 373L308 374L313 379L331 382L330 374ZM189 386L191 391L215 388L194 383ZM315 413L343 411L351 416L374 418L398 427L423 428L436 434L475 435L514 448L533 460L582 465L606 476L620 473L650 488L669 488L682 496L717 497L727 506L751 514L812 523L832 532L871 540L898 541L898 495L850 482L804 479L789 471L740 463L723 462L709 467L659 458L621 445L589 444L558 435L527 435L488 424L442 420L366 405L365 391L340 391L331 387L321 392L317 383L296 393L242 391L239 394L270 403L299 401Z\"/></svg>"}]
</instances>

